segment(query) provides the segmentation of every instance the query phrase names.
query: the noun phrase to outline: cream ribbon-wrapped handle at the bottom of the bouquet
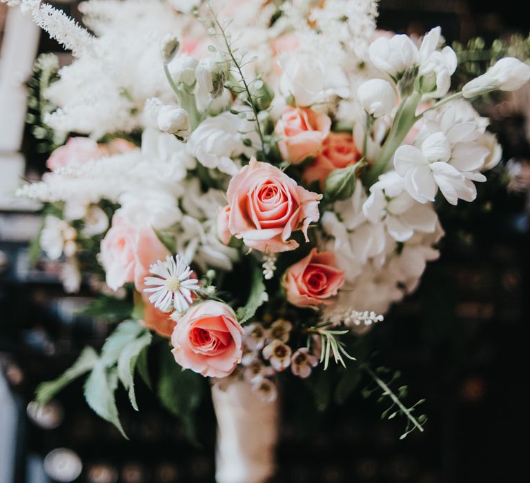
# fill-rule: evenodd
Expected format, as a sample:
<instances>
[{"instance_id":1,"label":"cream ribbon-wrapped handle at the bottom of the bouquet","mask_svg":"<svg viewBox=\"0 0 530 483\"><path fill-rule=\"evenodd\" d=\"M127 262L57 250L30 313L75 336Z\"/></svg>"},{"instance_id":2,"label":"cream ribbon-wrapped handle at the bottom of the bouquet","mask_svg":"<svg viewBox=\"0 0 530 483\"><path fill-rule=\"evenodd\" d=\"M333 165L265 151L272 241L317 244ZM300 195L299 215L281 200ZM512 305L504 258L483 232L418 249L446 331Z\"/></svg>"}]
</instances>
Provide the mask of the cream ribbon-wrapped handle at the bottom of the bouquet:
<instances>
[{"instance_id":1,"label":"cream ribbon-wrapped handle at the bottom of the bouquet","mask_svg":"<svg viewBox=\"0 0 530 483\"><path fill-rule=\"evenodd\" d=\"M264 483L275 473L278 401L263 402L248 382L212 386L217 416L217 483Z\"/></svg>"}]
</instances>

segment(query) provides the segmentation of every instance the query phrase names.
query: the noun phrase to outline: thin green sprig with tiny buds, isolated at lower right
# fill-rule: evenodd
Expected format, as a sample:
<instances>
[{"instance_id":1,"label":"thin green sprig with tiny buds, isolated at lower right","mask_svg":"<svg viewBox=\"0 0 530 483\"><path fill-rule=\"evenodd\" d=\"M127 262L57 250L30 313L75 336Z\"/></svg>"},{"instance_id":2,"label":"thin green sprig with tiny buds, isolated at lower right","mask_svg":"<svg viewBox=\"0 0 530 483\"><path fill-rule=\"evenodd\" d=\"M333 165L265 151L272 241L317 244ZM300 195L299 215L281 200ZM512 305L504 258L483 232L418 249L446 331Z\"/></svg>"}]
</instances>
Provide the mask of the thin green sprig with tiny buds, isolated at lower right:
<instances>
[{"instance_id":1,"label":"thin green sprig with tiny buds, isolated at lower right","mask_svg":"<svg viewBox=\"0 0 530 483\"><path fill-rule=\"evenodd\" d=\"M364 368L364 371L372 378L373 382L375 382L375 387L366 387L362 391L362 395L364 397L370 397L373 393L376 393L377 391L382 391L379 399L377 399L377 402L390 402L390 406L388 406L381 414L381 419L388 419L392 420L397 415L403 415L406 417L406 427L404 433L400 436L400 440L404 440L412 431L415 429L418 429L418 431L423 432L424 431L424 424L427 420L426 415L422 414L418 417L415 417L413 415L413 412L415 411L415 408L420 406L420 404L423 404L425 402L424 399L419 400L412 406L406 406L402 400L404 397L406 397L408 389L407 386L399 386L397 388L397 394L392 390L391 386L395 385L397 380L399 380L401 373L400 371L394 371L390 377L387 377L386 382L384 381L385 375L389 375L392 371L389 368L386 367L378 367L373 371L367 364L363 364L362 368ZM379 374L379 375L377 375Z\"/></svg>"}]
</instances>

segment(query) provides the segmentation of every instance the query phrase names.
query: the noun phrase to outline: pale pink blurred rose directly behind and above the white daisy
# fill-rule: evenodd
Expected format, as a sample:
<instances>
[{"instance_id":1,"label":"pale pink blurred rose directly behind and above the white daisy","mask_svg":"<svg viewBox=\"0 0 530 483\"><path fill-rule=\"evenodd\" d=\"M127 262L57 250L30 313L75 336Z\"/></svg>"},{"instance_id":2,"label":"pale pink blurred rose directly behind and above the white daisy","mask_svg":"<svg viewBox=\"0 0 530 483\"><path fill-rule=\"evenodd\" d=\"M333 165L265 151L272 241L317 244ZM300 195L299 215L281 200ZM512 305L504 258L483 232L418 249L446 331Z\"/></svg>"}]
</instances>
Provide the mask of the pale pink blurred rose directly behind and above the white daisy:
<instances>
[{"instance_id":1,"label":"pale pink blurred rose directly behind and above the white daisy","mask_svg":"<svg viewBox=\"0 0 530 483\"><path fill-rule=\"evenodd\" d=\"M127 282L135 282L140 293L150 265L171 255L153 228L126 224L116 216L101 240L100 252L107 285L117 290Z\"/></svg>"}]
</instances>

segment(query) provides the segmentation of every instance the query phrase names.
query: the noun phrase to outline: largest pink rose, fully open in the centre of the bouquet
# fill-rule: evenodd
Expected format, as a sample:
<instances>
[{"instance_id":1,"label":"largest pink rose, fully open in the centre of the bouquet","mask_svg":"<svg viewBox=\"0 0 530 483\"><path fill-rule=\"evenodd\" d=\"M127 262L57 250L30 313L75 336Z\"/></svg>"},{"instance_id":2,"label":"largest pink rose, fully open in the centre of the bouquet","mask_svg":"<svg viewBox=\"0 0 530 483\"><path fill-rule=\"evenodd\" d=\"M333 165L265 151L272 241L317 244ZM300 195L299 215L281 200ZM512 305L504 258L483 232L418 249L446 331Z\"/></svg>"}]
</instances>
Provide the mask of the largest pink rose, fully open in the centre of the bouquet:
<instances>
[{"instance_id":1,"label":"largest pink rose, fully open in the centre of the bouquet","mask_svg":"<svg viewBox=\"0 0 530 483\"><path fill-rule=\"evenodd\" d=\"M294 179L272 164L251 159L228 184L228 229L244 244L268 253L286 252L298 244L289 239L318 221L322 195L298 186Z\"/></svg>"}]
</instances>

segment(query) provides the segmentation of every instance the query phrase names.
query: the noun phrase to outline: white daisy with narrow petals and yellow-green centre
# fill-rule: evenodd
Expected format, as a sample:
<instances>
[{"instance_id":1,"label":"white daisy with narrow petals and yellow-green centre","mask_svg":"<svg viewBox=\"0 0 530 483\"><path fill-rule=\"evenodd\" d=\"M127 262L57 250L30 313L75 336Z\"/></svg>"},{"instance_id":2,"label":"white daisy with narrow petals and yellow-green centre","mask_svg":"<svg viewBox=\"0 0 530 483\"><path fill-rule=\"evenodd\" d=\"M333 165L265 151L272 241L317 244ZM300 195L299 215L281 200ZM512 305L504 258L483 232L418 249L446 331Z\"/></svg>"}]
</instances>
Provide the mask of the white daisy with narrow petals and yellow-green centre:
<instances>
[{"instance_id":1,"label":"white daisy with narrow petals and yellow-green centre","mask_svg":"<svg viewBox=\"0 0 530 483\"><path fill-rule=\"evenodd\" d=\"M199 289L199 282L191 278L188 262L181 255L175 258L168 255L166 261L159 260L151 265L149 272L155 277L146 277L144 292L152 292L149 302L155 304L161 311L169 312L173 307L175 311L184 312L193 303L192 294Z\"/></svg>"}]
</instances>

